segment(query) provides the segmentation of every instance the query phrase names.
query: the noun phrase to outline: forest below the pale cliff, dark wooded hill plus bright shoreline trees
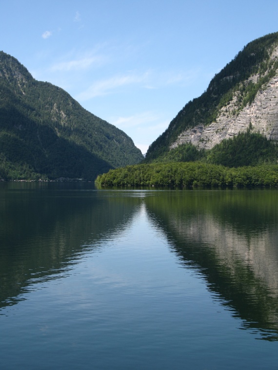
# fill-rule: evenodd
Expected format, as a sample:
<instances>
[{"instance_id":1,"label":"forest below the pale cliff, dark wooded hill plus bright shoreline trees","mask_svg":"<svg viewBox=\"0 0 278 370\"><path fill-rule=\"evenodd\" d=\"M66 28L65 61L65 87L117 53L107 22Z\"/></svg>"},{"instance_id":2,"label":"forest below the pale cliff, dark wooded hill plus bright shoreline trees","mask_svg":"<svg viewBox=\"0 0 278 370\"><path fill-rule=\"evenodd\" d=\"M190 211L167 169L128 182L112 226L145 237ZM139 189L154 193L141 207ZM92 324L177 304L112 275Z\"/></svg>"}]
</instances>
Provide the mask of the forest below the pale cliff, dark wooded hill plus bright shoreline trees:
<instances>
[{"instance_id":1,"label":"forest below the pale cliff, dark wooded hill plus bright shoreline trees","mask_svg":"<svg viewBox=\"0 0 278 370\"><path fill-rule=\"evenodd\" d=\"M210 150L181 145L153 163L110 170L100 186L277 186L278 147L251 129Z\"/></svg>"}]
</instances>

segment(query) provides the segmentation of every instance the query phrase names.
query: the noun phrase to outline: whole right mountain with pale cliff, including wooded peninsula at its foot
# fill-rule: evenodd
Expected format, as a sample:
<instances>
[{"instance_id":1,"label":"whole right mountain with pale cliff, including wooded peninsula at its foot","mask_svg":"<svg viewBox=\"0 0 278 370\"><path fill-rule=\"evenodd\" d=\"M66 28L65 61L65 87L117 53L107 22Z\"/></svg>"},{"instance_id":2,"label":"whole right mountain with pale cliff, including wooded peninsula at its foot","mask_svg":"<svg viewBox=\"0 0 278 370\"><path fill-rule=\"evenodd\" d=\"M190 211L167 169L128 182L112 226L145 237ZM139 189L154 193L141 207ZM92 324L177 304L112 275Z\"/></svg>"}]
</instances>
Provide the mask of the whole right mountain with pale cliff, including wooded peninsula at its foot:
<instances>
[{"instance_id":1,"label":"whole right mountain with pale cliff, including wooded peninsula at its foot","mask_svg":"<svg viewBox=\"0 0 278 370\"><path fill-rule=\"evenodd\" d=\"M278 185L278 33L247 44L188 102L138 166L99 185Z\"/></svg>"}]
</instances>

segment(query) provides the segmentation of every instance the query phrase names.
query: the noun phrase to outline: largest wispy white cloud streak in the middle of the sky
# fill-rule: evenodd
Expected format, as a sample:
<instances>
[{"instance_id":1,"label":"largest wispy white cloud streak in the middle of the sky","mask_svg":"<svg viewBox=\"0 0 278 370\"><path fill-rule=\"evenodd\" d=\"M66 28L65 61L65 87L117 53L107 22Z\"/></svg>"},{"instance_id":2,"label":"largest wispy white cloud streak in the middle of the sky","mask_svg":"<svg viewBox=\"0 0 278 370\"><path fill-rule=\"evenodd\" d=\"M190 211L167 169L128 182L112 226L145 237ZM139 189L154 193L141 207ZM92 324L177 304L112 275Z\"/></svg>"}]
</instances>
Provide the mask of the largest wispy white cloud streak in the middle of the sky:
<instances>
[{"instance_id":1,"label":"largest wispy white cloud streak in the middle of the sky","mask_svg":"<svg viewBox=\"0 0 278 370\"><path fill-rule=\"evenodd\" d=\"M147 75L147 73L142 75L117 75L106 80L97 81L92 84L87 90L81 92L77 99L88 100L95 96L107 95L121 86L144 82L147 78Z\"/></svg>"}]
</instances>

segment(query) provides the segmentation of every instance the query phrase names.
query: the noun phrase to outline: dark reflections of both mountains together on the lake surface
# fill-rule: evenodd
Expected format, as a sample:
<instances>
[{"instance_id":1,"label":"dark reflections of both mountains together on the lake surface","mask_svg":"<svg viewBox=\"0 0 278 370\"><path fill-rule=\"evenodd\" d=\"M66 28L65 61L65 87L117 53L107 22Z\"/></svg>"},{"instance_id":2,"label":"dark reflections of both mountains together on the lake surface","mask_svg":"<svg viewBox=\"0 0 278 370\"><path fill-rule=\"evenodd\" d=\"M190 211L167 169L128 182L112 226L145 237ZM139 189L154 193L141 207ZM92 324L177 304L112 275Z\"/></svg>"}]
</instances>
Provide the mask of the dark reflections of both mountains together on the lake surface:
<instances>
[{"instance_id":1,"label":"dark reflections of both mountains together on the lake surface","mask_svg":"<svg viewBox=\"0 0 278 370\"><path fill-rule=\"evenodd\" d=\"M180 266L199 272L242 320L241 329L278 339L277 191L13 186L0 192L2 309L25 299L36 283L67 276L88 249L124 232L144 206Z\"/></svg>"}]
</instances>

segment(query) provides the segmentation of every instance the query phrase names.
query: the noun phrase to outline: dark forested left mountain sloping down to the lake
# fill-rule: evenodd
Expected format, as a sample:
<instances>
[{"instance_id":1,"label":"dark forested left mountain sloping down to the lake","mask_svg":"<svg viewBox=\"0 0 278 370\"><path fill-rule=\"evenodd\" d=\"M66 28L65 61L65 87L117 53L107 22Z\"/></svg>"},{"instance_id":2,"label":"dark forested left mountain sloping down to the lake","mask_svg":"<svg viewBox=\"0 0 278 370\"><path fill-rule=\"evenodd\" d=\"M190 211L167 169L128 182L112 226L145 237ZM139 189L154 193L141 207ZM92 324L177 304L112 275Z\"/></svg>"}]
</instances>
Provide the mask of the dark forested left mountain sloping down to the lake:
<instances>
[{"instance_id":1,"label":"dark forested left mountain sloping down to the lake","mask_svg":"<svg viewBox=\"0 0 278 370\"><path fill-rule=\"evenodd\" d=\"M123 131L0 52L0 179L94 180L142 159Z\"/></svg>"}]
</instances>

